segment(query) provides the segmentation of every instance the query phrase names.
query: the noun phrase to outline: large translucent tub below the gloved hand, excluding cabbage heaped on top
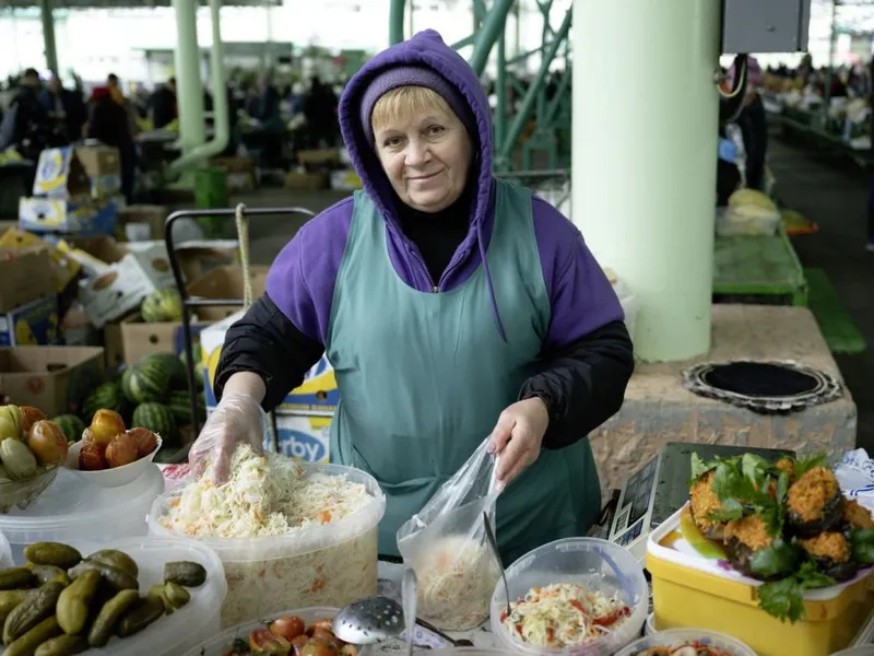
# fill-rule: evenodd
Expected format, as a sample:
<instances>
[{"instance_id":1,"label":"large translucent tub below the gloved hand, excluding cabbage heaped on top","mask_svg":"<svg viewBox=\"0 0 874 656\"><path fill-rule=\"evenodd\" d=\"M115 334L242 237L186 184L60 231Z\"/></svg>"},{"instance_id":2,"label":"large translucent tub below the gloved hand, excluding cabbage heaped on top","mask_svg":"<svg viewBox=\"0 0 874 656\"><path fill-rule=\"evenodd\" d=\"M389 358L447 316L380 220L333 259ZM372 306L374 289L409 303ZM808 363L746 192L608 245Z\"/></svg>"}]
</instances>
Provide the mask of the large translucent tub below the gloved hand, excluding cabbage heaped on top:
<instances>
[{"instance_id":1,"label":"large translucent tub below the gloved hand, excluding cabbage heaped on top","mask_svg":"<svg viewBox=\"0 0 874 656\"><path fill-rule=\"evenodd\" d=\"M364 484L371 499L358 513L292 536L252 539L196 539L221 557L228 593L222 626L258 620L287 608L342 608L377 591L377 525L386 497L374 477L339 465L302 462L304 476L345 476ZM151 535L172 534L161 523L181 490L155 500L149 514Z\"/></svg>"}]
</instances>

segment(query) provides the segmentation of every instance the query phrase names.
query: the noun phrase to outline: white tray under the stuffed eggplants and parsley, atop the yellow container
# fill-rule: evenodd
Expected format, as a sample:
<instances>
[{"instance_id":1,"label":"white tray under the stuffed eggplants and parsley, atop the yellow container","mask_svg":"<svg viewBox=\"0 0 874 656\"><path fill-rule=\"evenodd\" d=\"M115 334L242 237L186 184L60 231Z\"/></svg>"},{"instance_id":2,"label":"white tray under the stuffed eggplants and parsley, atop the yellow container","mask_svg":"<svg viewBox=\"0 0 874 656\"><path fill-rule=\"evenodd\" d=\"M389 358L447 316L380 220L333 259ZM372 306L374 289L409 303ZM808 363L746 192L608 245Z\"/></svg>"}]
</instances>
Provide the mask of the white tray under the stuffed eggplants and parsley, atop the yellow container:
<instances>
[{"instance_id":1,"label":"white tray under the stuffed eggplants and parsley, atop the yellow container","mask_svg":"<svg viewBox=\"0 0 874 656\"><path fill-rule=\"evenodd\" d=\"M761 585L760 581L756 581L755 578L749 578L748 576L741 574L737 570L732 567L728 561L705 558L698 553L694 547L688 544L685 539L677 540L672 547L663 547L660 543L671 531L676 530L680 532L680 516L683 514L683 511L687 505L688 503L665 519L661 525L659 525L658 528L656 528L656 530L649 534L649 538L647 539L647 557L654 557L662 561L682 565L684 567L692 567L693 570L698 570L699 572L713 574L714 576L720 576L721 578L736 581L754 587ZM861 578L869 576L871 572L872 567L860 570L859 573L850 581L846 581L826 588L808 590L804 594L804 598L811 601L829 601L839 597L848 586Z\"/></svg>"}]
</instances>

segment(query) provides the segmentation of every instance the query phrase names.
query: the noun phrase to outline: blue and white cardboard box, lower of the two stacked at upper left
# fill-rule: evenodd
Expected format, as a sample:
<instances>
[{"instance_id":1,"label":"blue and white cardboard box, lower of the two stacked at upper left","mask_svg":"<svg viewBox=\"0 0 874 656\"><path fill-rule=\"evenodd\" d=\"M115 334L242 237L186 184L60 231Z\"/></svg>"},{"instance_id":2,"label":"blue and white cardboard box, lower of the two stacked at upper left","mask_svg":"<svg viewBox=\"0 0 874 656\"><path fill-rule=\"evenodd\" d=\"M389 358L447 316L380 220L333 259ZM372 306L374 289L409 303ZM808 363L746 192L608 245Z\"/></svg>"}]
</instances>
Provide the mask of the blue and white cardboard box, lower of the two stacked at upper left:
<instances>
[{"instance_id":1,"label":"blue and white cardboard box, lower of the two stacked at upper left","mask_svg":"<svg viewBox=\"0 0 874 656\"><path fill-rule=\"evenodd\" d=\"M118 204L113 200L19 199L19 227L35 233L115 234Z\"/></svg>"}]
</instances>

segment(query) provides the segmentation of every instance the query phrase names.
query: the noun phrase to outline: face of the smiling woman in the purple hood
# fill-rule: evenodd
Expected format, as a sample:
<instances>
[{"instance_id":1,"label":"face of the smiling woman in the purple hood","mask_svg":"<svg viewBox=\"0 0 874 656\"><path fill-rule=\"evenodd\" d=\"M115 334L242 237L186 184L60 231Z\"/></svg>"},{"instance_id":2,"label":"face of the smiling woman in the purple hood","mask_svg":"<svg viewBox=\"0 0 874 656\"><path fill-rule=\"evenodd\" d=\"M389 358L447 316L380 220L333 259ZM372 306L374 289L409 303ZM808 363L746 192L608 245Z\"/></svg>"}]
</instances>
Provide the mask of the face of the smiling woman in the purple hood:
<instances>
[{"instance_id":1,"label":"face of the smiling woman in the purple hood","mask_svg":"<svg viewBox=\"0 0 874 656\"><path fill-rule=\"evenodd\" d=\"M382 168L400 199L422 212L439 212L464 191L471 140L452 112L433 109L374 130Z\"/></svg>"}]
</instances>

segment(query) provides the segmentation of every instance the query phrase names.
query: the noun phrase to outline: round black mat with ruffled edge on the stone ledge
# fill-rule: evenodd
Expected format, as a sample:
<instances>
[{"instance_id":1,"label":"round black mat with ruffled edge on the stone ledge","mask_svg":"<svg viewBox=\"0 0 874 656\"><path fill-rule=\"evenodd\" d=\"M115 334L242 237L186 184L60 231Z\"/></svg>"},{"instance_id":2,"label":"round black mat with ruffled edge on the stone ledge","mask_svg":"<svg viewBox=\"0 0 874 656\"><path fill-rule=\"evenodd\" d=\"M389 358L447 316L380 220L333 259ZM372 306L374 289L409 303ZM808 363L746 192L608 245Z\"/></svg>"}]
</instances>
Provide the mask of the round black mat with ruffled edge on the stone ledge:
<instances>
[{"instance_id":1,"label":"round black mat with ruffled edge on the stone ledge","mask_svg":"<svg viewBox=\"0 0 874 656\"><path fill-rule=\"evenodd\" d=\"M702 397L763 414L796 412L840 398L840 382L795 362L735 360L686 370L683 386Z\"/></svg>"}]
</instances>

